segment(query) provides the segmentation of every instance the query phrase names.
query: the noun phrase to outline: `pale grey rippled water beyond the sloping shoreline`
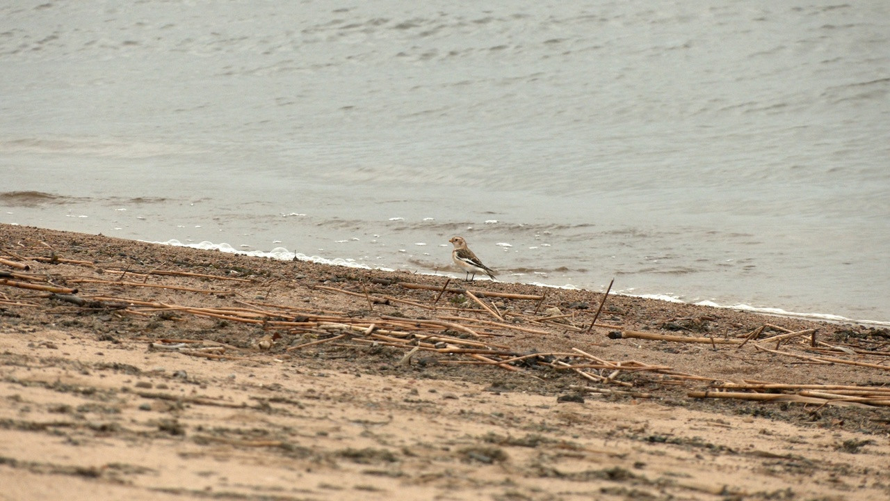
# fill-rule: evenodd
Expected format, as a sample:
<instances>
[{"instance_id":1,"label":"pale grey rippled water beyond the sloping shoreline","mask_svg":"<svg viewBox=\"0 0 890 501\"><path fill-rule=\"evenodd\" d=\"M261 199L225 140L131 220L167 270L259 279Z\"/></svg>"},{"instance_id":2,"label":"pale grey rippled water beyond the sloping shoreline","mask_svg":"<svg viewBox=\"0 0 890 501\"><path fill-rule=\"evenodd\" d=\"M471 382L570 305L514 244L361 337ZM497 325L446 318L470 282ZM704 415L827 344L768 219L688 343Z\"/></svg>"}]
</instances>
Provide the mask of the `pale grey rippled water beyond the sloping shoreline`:
<instances>
[{"instance_id":1,"label":"pale grey rippled water beyond the sloping shoreline","mask_svg":"<svg viewBox=\"0 0 890 501\"><path fill-rule=\"evenodd\" d=\"M7 3L0 222L886 322L888 5Z\"/></svg>"}]
</instances>

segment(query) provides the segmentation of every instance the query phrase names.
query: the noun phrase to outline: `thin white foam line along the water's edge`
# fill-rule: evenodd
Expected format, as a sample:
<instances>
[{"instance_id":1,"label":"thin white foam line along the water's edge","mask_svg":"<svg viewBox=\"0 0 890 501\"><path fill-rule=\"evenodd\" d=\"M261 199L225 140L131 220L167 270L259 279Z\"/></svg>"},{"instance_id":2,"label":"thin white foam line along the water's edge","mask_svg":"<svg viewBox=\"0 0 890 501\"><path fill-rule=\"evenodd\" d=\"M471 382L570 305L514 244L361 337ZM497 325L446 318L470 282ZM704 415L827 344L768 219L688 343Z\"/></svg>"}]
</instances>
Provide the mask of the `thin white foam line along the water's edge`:
<instances>
[{"instance_id":1,"label":"thin white foam line along the water's edge","mask_svg":"<svg viewBox=\"0 0 890 501\"><path fill-rule=\"evenodd\" d=\"M142 241L148 242L148 241ZM198 243L182 243L178 240L168 240L166 242L149 242L149 243L158 243L161 245L172 245L175 247L190 247L192 249L200 249L200 250L219 250L221 252L227 252L231 254L241 254L244 256L250 256L255 258L271 258L271 259L279 259L282 261L309 261L312 263L319 263L323 265L331 265L337 267L354 267L354 268L364 268L364 269L378 269L381 271L395 271L393 268L387 267L369 267L366 264L360 263L355 259L328 259L322 258L320 256L307 256L300 252L291 252L283 247L276 247L275 249L264 251L264 250L238 250L232 247L228 243L214 243L214 242L198 242ZM429 275L439 275L439 274L429 274ZM555 289L578 289L575 285L553 285L550 283L538 283L531 282L529 285L537 285L539 287L552 287ZM666 294L627 294L616 292L624 296L632 296L637 298L643 298L647 300L662 300L676 303L684 303L687 301L680 300L674 296L666 295ZM749 311L751 313L760 313L763 315L775 315L775 316L792 316L796 318L805 318L810 320L821 320L824 322L834 322L834 323L854 323L854 324L867 324L874 325L876 327L890 327L890 322L882 322L878 320L855 320L852 318L847 318L845 316L839 315L831 315L828 313L798 313L793 311L788 311L782 308L767 308L767 307L754 307L747 304L735 304L735 305L721 305L713 301L703 300L692 303L697 306L706 306L710 308L727 308L727 309L737 309L742 311Z\"/></svg>"}]
</instances>

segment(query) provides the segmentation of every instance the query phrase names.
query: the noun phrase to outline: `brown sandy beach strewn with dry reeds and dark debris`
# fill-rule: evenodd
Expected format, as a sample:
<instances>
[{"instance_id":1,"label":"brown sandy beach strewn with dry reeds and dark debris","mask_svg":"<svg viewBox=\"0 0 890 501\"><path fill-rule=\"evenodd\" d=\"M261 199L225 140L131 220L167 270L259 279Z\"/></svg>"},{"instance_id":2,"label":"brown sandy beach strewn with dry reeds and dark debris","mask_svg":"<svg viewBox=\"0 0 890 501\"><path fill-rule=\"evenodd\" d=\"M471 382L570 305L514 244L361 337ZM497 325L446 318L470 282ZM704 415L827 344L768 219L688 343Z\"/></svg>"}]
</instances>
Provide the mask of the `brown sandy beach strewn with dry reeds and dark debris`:
<instances>
[{"instance_id":1,"label":"brown sandy beach strewn with dry reeds and dark debris","mask_svg":"<svg viewBox=\"0 0 890 501\"><path fill-rule=\"evenodd\" d=\"M886 329L28 226L0 258L0 499L890 497Z\"/></svg>"}]
</instances>

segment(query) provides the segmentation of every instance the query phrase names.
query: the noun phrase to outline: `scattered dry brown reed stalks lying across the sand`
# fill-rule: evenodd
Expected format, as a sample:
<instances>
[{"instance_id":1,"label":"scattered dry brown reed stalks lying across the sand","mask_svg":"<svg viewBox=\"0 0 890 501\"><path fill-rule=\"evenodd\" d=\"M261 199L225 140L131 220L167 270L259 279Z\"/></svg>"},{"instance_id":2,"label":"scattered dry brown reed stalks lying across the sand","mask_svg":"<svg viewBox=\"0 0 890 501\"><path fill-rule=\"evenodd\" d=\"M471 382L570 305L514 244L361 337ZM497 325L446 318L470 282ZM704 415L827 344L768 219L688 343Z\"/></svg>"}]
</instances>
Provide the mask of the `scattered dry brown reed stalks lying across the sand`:
<instances>
[{"instance_id":1,"label":"scattered dry brown reed stalks lying across the sand","mask_svg":"<svg viewBox=\"0 0 890 501\"><path fill-rule=\"evenodd\" d=\"M71 275L56 277L32 273L28 261L35 263L63 263L79 267L96 268L92 276ZM250 289L262 288L263 283L254 279L223 275L206 275L175 270L152 269L134 272L130 269L98 268L90 261L62 259L54 253L50 257L22 257L10 253L0 258L0 265L12 271L0 270L0 285L26 289L30 293L20 294L15 299L0 291L0 305L10 307L39 307L36 299L53 299L71 303L79 308L93 308L113 311L117 315L180 318L200 316L224 320L231 323L254 324L263 329L264 335L252 349L235 347L216 341L134 338L146 341L151 349L173 350L183 355L216 359L243 359L252 357L292 357L296 350L329 343L339 347L386 346L404 350L400 364L409 365L423 357L434 355L443 364L490 365L514 373L527 374L539 378L538 370L570 371L583 378L586 385L576 385L578 391L591 393L626 395L633 398L650 398L651 393L635 390L635 378L627 374L648 373L654 377L639 380L651 384L662 383L705 384L705 390L691 390L692 398L738 398L762 401L802 402L805 404L843 406L890 406L890 389L884 387L839 386L818 384L791 384L761 381L724 381L718 378L684 374L667 365L647 364L638 360L606 360L589 353L588 350L571 348L567 351L535 351L511 348L509 340L516 335L548 336L554 333L591 332L594 327L610 330L611 339L634 339L667 343L700 343L716 349L718 345L727 349L748 349L773 354L775 357L793 357L812 364L846 364L868 367L876 370L890 370L884 365L888 354L885 351L841 346L817 339L814 329L790 332L780 326L763 324L750 333L738 337L695 337L656 332L627 330L620 325L597 323L597 318L608 299L607 291L599 301L595 316L588 322L579 323L578 317L554 312L545 306L546 294L528 295L506 292L471 290L449 287L450 281L442 286L423 283L398 283L406 291L427 290L431 300L417 300L417 297L395 297L376 295L368 292L366 283L357 282L352 290L329 285L314 285L316 291L341 294L357 301L367 309L363 315L354 316L342 311L320 311L318 308L299 308L271 304L257 300L239 300L238 296ZM97 276L101 276L98 278ZM231 284L231 288L185 287L166 283L150 282L152 276L178 276L207 281L220 281ZM56 283L58 282L58 283ZM113 286L114 291L128 288L163 288L193 294L213 294L217 298L231 298L226 307L188 306L150 300L128 298L117 294L82 294L73 284L88 283L91 288ZM392 282L387 281L387 284ZM611 284L610 284L611 290ZM454 308L440 305L443 294L462 294L478 308ZM532 301L536 308L526 311L511 311L509 316L498 308L498 300ZM416 308L423 315L393 316L377 314L376 305L400 304ZM455 312L454 310L457 310ZM456 315L459 313L460 315ZM774 332L762 337L765 332ZM282 338L299 339L300 342L279 346L276 341ZM804 345L805 343L805 345ZM784 349L782 347L784 346ZM266 353L270 350L269 353ZM874 361L868 358L883 357ZM619 378L619 376L622 376ZM628 381L630 380L630 381ZM591 386L590 384L595 384Z\"/></svg>"}]
</instances>

